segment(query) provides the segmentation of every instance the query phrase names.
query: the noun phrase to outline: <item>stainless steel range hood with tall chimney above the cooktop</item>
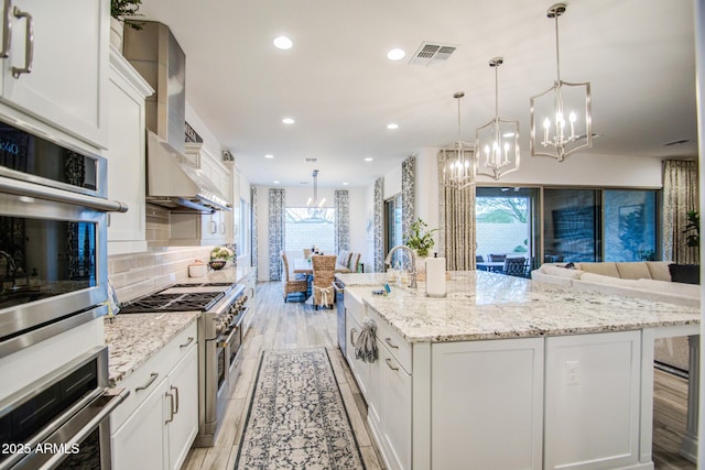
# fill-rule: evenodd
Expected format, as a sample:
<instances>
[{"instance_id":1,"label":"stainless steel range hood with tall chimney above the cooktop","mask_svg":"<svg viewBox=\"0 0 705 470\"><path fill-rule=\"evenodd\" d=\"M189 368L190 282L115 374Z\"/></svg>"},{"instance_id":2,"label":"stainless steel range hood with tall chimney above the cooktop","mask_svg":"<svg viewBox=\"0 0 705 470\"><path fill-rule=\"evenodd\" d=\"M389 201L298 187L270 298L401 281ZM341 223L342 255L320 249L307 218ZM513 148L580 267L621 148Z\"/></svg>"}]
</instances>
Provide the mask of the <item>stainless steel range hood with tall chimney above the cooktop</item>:
<instances>
[{"instance_id":1,"label":"stainless steel range hood with tall chimney above the cooktop","mask_svg":"<svg viewBox=\"0 0 705 470\"><path fill-rule=\"evenodd\" d=\"M122 55L154 95L147 99L147 200L170 209L230 210L228 199L184 155L186 56L170 29L154 21L124 29Z\"/></svg>"}]
</instances>

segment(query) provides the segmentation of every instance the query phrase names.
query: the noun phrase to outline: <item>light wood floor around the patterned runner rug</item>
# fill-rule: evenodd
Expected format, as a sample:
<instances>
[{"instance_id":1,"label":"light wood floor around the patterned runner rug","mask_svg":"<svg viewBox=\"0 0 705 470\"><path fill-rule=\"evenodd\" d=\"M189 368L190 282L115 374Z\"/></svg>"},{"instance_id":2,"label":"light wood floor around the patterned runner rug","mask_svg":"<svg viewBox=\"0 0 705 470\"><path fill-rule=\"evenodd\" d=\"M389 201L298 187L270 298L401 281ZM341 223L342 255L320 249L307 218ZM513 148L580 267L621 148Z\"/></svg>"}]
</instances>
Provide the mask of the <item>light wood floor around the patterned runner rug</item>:
<instances>
[{"instance_id":1,"label":"light wood floor around the patterned runner rug","mask_svg":"<svg viewBox=\"0 0 705 470\"><path fill-rule=\"evenodd\" d=\"M185 470L232 470L238 452L242 427L257 367L262 350L326 347L340 386L352 430L369 470L383 468L367 428L367 405L350 375L347 363L337 348L336 310L314 310L311 305L290 302L284 304L280 283L259 283L254 319L245 338L245 361L230 405L221 425L216 445L195 448L188 452ZM672 374L655 371L653 461L655 469L696 469L694 463L677 453L680 439L685 430L685 402L687 383Z\"/></svg>"}]
</instances>

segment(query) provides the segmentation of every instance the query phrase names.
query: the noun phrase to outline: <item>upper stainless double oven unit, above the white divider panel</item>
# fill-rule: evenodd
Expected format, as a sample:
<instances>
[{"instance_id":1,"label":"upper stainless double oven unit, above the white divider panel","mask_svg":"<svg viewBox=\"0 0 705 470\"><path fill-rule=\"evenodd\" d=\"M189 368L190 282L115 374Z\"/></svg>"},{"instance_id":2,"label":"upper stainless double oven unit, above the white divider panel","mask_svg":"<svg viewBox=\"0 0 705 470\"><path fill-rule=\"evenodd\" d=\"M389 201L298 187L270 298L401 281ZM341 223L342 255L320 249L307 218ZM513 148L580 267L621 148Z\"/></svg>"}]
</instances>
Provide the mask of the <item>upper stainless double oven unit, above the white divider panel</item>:
<instances>
[{"instance_id":1,"label":"upper stainless double oven unit, above the white divider panel","mask_svg":"<svg viewBox=\"0 0 705 470\"><path fill-rule=\"evenodd\" d=\"M0 122L0 357L104 315L107 161Z\"/></svg>"}]
</instances>

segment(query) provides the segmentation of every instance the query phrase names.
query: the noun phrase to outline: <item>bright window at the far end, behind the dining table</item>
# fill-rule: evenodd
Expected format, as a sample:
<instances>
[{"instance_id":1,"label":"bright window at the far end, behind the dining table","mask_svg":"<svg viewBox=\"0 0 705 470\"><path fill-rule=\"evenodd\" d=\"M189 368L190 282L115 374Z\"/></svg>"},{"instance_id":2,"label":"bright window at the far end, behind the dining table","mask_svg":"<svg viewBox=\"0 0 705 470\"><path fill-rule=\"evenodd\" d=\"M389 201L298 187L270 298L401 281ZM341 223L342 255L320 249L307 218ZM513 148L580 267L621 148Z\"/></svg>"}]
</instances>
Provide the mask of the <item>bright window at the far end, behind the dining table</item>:
<instances>
[{"instance_id":1,"label":"bright window at the far end, behind the dining table","mask_svg":"<svg viewBox=\"0 0 705 470\"><path fill-rule=\"evenodd\" d=\"M316 247L319 252L335 254L335 209L323 207L288 207L285 211L284 250L302 253Z\"/></svg>"}]
</instances>

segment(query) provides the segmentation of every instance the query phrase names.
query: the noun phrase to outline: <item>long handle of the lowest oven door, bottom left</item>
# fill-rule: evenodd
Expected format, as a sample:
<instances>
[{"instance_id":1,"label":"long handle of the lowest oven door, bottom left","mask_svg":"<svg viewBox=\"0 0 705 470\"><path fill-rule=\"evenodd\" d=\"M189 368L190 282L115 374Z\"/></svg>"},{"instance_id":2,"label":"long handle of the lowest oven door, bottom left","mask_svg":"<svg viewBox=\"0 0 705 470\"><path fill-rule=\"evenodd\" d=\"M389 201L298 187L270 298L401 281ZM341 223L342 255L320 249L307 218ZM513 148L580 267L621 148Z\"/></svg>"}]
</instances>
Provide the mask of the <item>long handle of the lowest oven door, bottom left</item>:
<instances>
[{"instance_id":1,"label":"long handle of the lowest oven door, bottom left","mask_svg":"<svg viewBox=\"0 0 705 470\"><path fill-rule=\"evenodd\" d=\"M45 439L30 440L26 444L32 449L35 449L37 445L50 444L58 446L63 444L65 449L70 450L79 446L129 395L130 391L126 389L106 389L102 394L83 407ZM67 452L32 452L21 459L20 462L23 468L54 468L67 455Z\"/></svg>"}]
</instances>

